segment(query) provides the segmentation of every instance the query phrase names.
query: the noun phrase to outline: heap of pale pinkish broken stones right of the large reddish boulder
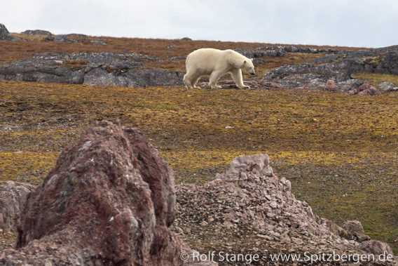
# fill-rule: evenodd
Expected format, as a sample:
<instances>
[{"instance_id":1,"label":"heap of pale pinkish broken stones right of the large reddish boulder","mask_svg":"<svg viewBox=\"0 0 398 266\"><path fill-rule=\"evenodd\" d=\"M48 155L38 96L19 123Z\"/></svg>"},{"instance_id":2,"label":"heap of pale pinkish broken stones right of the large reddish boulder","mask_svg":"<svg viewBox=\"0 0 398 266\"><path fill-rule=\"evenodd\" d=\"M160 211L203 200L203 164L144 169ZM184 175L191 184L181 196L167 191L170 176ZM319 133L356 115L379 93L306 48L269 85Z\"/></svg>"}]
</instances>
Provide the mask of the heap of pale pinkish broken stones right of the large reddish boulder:
<instances>
[{"instance_id":1,"label":"heap of pale pinkish broken stones right of the large reddish boulder","mask_svg":"<svg viewBox=\"0 0 398 266\"><path fill-rule=\"evenodd\" d=\"M263 154L238 157L205 185L177 185L174 232L219 265L395 265L364 255L367 244L314 215L268 161Z\"/></svg>"}]
</instances>

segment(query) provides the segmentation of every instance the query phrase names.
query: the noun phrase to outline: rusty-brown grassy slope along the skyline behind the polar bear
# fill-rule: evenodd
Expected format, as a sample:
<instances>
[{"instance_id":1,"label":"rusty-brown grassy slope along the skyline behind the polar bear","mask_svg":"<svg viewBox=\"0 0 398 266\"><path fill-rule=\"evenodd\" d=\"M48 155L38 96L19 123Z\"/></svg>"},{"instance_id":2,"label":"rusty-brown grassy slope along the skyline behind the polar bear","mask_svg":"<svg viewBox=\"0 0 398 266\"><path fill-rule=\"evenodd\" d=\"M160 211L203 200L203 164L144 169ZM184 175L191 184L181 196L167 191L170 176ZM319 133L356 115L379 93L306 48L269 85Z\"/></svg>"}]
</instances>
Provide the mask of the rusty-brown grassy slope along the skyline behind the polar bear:
<instances>
[{"instance_id":1,"label":"rusty-brown grassy slope along the skyline behind the polar bear","mask_svg":"<svg viewBox=\"0 0 398 266\"><path fill-rule=\"evenodd\" d=\"M32 36L26 34L13 34L18 38L28 41L1 41L0 62L27 58L37 53L46 52L65 52L65 53L141 53L144 55L153 55L164 60L179 55L188 55L198 48L217 48L217 49L235 49L235 48L258 48L263 46L280 46L280 44L261 44L233 41L185 41L179 39L140 39L140 38L114 38L114 37L94 37L88 36L88 42L78 43L55 43L45 41L45 36ZM105 41L106 46L92 44L90 41ZM173 49L166 49L172 46ZM337 48L336 46L306 46L314 48ZM358 49L349 47L339 47L343 49Z\"/></svg>"}]
</instances>

